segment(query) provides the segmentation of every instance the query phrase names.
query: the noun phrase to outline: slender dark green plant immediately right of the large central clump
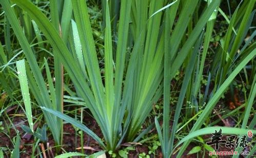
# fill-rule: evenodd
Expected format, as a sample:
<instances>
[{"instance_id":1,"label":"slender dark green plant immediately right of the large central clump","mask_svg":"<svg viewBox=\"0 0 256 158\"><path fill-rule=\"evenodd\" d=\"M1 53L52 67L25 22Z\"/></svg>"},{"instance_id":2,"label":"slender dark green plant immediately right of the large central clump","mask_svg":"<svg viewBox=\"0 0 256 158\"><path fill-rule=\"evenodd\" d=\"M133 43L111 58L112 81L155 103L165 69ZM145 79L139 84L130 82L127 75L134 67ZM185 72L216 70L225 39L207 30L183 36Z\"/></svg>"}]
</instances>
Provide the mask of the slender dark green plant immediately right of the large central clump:
<instances>
[{"instance_id":1,"label":"slender dark green plant immediately right of the large central clump","mask_svg":"<svg viewBox=\"0 0 256 158\"><path fill-rule=\"evenodd\" d=\"M167 9L166 16L168 19L172 19L172 21L166 22L166 27L169 29L172 28L172 25L168 25L169 23L173 24L173 20L175 19L176 14L178 14L178 7L180 1L176 2L173 6ZM176 131L176 126L178 124L181 107L183 104L183 100L186 94L186 90L188 87L188 83L190 80L190 76L193 71L193 67L195 64L196 54L198 53L201 40L202 40L202 30L207 23L208 20L212 20L212 16L214 17L214 10L218 8L220 1L213 1L209 3L208 8L202 13L201 17L195 24L195 27L192 31L190 31L189 36L185 43L183 44L180 52L178 53L179 45L182 41L182 37L184 36L185 30L189 27L189 21L191 20L191 16L187 16L187 14L193 14L196 6L200 4L198 1L186 1L183 4L183 8L180 11L178 22L176 23L174 30L171 34L170 39L168 38L169 34L166 33L165 39L165 65L164 65L164 116L163 116L163 133L161 131L159 122L155 119L155 124L157 128L157 132L159 133L159 138L161 142L161 147L163 151L164 157L169 157L174 142L174 134ZM185 22L186 21L186 22ZM185 23L184 23L185 22ZM169 30L167 29L167 30ZM190 29L191 30L191 29ZM199 40L198 40L199 38ZM198 40L198 41L196 41ZM172 47L169 48L171 44ZM193 48L194 46L194 48ZM169 130L169 115L170 115L170 80L175 76L176 71L180 68L180 66L184 63L186 57L190 57L187 63L185 77L183 79L183 84L181 87L181 93L179 95L178 103L176 105L175 115L174 115L174 123L172 126L172 132L170 134ZM171 69L170 69L171 67ZM170 72L171 70L171 72ZM200 83L200 82L199 82Z\"/></svg>"}]
</instances>

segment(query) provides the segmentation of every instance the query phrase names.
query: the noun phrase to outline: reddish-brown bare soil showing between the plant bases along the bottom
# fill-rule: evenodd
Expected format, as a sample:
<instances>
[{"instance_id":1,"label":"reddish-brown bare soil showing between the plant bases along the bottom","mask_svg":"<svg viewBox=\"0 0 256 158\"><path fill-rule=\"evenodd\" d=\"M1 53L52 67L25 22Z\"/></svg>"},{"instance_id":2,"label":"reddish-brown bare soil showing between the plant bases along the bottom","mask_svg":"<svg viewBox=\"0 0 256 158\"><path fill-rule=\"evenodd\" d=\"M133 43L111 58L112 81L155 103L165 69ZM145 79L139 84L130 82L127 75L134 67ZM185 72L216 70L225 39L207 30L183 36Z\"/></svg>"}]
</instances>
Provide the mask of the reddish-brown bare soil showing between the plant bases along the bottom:
<instances>
[{"instance_id":1,"label":"reddish-brown bare soil showing between the plant bases along the bottom","mask_svg":"<svg viewBox=\"0 0 256 158\"><path fill-rule=\"evenodd\" d=\"M14 111L14 110L8 110L8 115L12 116L12 114L19 114L19 112ZM218 116L216 116L216 118L214 119L218 119ZM0 120L1 121L1 120ZM96 121L90 116L90 115L86 115L84 118L84 122L86 123L86 126L89 127L92 131L94 131L97 136L99 136L100 138L103 138L101 130L99 128L99 126L97 126ZM7 130L7 126L5 126L5 130L0 132L0 147L4 147L4 148L9 148L9 151L12 151L13 149L13 138L16 136L16 131L13 128L13 126L16 128L16 130L19 131L19 136L21 137L21 145L19 146L20 151L21 151L21 157L31 157L32 155L32 146L33 144L35 144L34 142L34 138L33 136L29 137L23 137L25 132L22 130L21 125L25 124L27 125L26 122L26 117L24 117L24 115L22 116L15 116L12 117L12 124L13 126L10 125L10 123L7 121L6 122L8 124L9 127L11 127L9 130L10 132L8 132ZM160 122L162 124L162 122ZM172 123L170 123L170 126L172 125ZM219 122L218 125L223 126L224 123L223 122ZM150 131L152 134L156 134L156 130L152 129ZM8 134L5 134L8 133ZM8 136L9 135L9 136ZM76 136L76 137L75 137ZM67 151L67 152L81 152L81 139L80 139L80 134L75 134L75 128L69 124L69 123L65 123L64 124L64 136L63 136L63 145L62 145L62 149ZM86 148L84 149L84 152L88 155L96 152L96 151L100 151L101 147L99 146L99 144L97 142L95 142L92 138L90 138L86 133L84 133L84 144L83 147ZM205 135L203 136L204 140L210 139L211 135ZM11 141L12 139L12 141ZM223 139L226 139L225 136L223 136ZM47 147L47 143L49 144ZM44 143L44 148L46 150L46 155L47 157L53 157L52 155L57 154L57 150L55 144L54 144L54 140L50 134L50 132L48 131L48 141L47 143ZM183 157L198 157L197 154L190 154L187 155L187 153L198 144L193 144L190 143L190 145L187 147L186 151L184 152ZM213 147L213 146L212 146ZM213 147L214 148L214 147ZM42 148L40 148L40 150L42 151ZM234 150L234 149L229 149L226 148L225 145L220 146L219 151L230 151L230 150ZM5 151L5 153L10 154L9 151ZM133 151L129 151L128 153L128 157L139 157L140 153L148 153L149 148L146 144L143 145L136 145L135 146L135 150ZM58 152L58 154L60 154L62 152L62 150L60 150ZM35 155L37 153L34 153ZM208 152L206 152L206 157L208 157ZM5 156L5 157L9 157ZM110 157L107 154L107 157ZM161 152L161 147L159 147L156 151L154 155L150 155L150 157L163 157L163 154ZM172 157L176 157L176 154L172 155ZM228 156L219 156L219 157L228 157Z\"/></svg>"}]
</instances>

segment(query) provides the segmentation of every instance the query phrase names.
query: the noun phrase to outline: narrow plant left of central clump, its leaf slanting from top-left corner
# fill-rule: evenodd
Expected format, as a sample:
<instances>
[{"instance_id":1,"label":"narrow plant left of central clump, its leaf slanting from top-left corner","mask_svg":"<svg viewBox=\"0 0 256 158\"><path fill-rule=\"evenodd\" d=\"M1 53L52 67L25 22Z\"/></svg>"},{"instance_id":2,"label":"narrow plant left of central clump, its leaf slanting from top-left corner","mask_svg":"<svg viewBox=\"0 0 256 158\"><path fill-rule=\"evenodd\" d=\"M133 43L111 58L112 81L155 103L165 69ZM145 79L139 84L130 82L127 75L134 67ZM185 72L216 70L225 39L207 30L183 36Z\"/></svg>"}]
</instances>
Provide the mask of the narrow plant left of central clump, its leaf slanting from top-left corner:
<instances>
[{"instance_id":1,"label":"narrow plant left of central clump, its leaf slanting from top-left corner","mask_svg":"<svg viewBox=\"0 0 256 158\"><path fill-rule=\"evenodd\" d=\"M27 61L30 65L31 71L33 72L34 76L32 76L31 71L29 69L27 69L26 73L27 73L28 82L30 85L30 90L32 91L37 103L40 104L41 106L52 107L54 109L60 110L62 108L62 106L61 106L61 104L56 104L56 102L55 102L56 100L54 100L56 98L52 98L52 100L51 100L49 97L47 87L45 85L45 81L44 81L42 73L40 71L40 67L38 66L38 64L36 62L33 51L30 48L30 45L28 43L28 39L24 35L21 26L19 26L19 24L18 24L18 20L16 19L13 8L11 8L8 1L0 1L0 3L2 4L2 6L6 12L8 20L10 21L10 24L13 27L13 31L19 41L19 44L21 44L21 47L24 50L24 54L27 57ZM50 83L50 81L49 81L49 83ZM58 84L60 84L60 83L58 83ZM55 92L52 91L53 89L50 89L50 90L51 90L52 95L53 95L53 93L55 94ZM61 137L61 130L62 130L61 119L58 119L54 115L51 115L48 113L45 113L45 118L46 118L48 126L50 127L50 129L52 131L55 143L60 144L61 143L60 137Z\"/></svg>"}]
</instances>

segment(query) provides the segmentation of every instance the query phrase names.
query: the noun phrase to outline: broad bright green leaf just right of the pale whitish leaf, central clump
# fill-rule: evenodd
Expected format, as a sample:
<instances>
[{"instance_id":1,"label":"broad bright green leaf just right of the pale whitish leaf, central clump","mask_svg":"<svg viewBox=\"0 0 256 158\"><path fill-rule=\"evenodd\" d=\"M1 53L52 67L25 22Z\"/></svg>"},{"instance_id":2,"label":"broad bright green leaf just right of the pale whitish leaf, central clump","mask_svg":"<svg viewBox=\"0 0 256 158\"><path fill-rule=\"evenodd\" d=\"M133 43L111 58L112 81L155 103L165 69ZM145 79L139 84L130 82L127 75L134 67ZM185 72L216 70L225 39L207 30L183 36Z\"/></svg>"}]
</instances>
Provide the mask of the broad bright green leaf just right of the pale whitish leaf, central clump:
<instances>
[{"instance_id":1,"label":"broad bright green leaf just right of the pale whitish leaf, central clump","mask_svg":"<svg viewBox=\"0 0 256 158\"><path fill-rule=\"evenodd\" d=\"M105 99L104 86L100 73L100 66L97 60L97 54L95 50L94 40L92 36L92 30L90 25L89 14L85 1L72 1L74 17L77 25L78 34L82 44L83 55L86 64L86 70L89 76L91 89L95 98L92 104L93 108L96 108L94 117L101 126L102 132L107 142L108 148L114 149L112 145L112 137L110 135L110 124L107 123L108 116L105 114ZM110 144L108 144L110 143Z\"/></svg>"}]
</instances>

